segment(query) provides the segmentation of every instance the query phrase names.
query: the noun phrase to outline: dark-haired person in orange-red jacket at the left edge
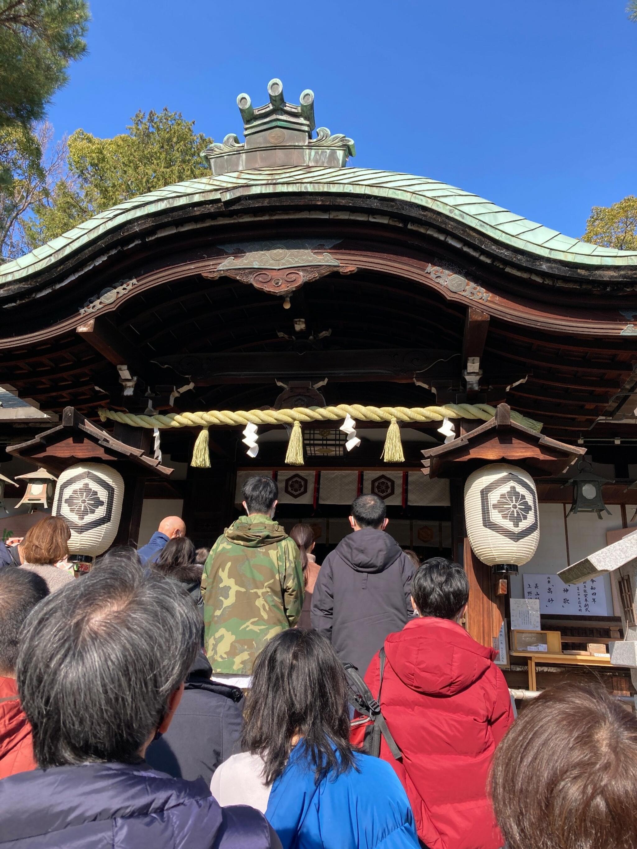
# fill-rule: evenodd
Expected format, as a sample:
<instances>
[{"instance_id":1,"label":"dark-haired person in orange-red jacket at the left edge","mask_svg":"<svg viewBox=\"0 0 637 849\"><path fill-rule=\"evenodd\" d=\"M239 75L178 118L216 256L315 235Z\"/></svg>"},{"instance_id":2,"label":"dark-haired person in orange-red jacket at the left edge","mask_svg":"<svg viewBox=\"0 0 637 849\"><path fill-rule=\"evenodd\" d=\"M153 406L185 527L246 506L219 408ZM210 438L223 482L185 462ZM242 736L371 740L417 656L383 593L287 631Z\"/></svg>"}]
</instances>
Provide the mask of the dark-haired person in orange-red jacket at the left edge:
<instances>
[{"instance_id":1,"label":"dark-haired person in orange-red jacket at the left edge","mask_svg":"<svg viewBox=\"0 0 637 849\"><path fill-rule=\"evenodd\" d=\"M0 779L35 769L31 725L20 704L15 664L20 628L48 596L42 576L24 569L0 570Z\"/></svg>"}]
</instances>

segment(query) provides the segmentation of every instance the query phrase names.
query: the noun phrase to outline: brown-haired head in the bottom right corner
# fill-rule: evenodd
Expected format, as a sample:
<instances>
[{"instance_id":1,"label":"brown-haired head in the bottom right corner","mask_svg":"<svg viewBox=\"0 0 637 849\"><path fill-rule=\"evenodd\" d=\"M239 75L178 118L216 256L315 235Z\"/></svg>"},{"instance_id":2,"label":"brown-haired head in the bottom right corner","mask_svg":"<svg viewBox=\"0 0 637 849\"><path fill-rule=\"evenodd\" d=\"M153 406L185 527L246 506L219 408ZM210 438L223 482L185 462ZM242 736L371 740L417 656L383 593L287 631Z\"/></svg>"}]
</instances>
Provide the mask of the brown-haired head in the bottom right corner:
<instances>
[{"instance_id":1,"label":"brown-haired head in the bottom right corner","mask_svg":"<svg viewBox=\"0 0 637 849\"><path fill-rule=\"evenodd\" d=\"M508 849L637 846L637 718L598 684L562 684L521 711L495 752Z\"/></svg>"}]
</instances>

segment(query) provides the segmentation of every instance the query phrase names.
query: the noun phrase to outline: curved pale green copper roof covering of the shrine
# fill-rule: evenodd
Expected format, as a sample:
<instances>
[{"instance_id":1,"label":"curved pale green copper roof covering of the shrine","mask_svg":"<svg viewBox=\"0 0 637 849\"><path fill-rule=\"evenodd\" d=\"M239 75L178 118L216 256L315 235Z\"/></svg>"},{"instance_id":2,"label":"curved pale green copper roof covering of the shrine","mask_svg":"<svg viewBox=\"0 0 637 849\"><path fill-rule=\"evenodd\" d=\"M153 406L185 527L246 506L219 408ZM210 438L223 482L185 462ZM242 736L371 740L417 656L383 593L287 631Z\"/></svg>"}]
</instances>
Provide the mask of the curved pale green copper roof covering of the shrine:
<instances>
[{"instance_id":1,"label":"curved pale green copper roof covering of the shrine","mask_svg":"<svg viewBox=\"0 0 637 849\"><path fill-rule=\"evenodd\" d=\"M637 266L637 251L617 250L573 239L505 210L477 194L429 177L370 168L286 166L234 171L186 180L141 194L79 224L30 254L0 266L0 285L24 281L91 242L143 216L210 201L275 194L366 195L411 202L460 222L494 243L537 257L567 262L583 270Z\"/></svg>"}]
</instances>

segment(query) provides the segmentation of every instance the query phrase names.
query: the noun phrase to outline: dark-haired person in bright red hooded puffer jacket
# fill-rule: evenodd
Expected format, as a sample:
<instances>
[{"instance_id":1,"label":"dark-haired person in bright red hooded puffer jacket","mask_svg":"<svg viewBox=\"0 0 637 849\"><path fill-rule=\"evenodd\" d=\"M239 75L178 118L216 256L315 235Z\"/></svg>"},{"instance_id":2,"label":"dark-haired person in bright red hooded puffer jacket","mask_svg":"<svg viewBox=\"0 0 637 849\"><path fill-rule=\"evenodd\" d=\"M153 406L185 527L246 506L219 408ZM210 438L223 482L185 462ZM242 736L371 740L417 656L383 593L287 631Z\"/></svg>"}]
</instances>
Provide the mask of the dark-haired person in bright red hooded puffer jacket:
<instances>
[{"instance_id":1,"label":"dark-haired person in bright red hooded puffer jacket","mask_svg":"<svg viewBox=\"0 0 637 849\"><path fill-rule=\"evenodd\" d=\"M462 566L434 557L412 582L418 616L385 641L381 708L403 753L381 742L409 796L418 836L429 849L499 849L504 840L488 799L493 752L513 722L496 652L458 623L469 600ZM379 692L380 659L365 675Z\"/></svg>"}]
</instances>

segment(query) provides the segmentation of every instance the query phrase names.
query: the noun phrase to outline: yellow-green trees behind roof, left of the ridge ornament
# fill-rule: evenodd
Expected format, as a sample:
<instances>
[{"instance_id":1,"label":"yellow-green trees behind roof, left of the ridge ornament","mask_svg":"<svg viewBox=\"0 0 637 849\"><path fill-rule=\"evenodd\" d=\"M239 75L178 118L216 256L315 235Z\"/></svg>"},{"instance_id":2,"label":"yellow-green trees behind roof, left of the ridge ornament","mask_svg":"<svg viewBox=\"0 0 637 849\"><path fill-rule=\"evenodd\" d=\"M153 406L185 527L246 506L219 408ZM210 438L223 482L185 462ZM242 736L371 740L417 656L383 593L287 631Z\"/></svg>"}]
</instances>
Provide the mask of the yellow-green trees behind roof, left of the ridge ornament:
<instances>
[{"instance_id":1,"label":"yellow-green trees behind roof, left of the ridge ornament","mask_svg":"<svg viewBox=\"0 0 637 849\"><path fill-rule=\"evenodd\" d=\"M31 247L65 233L122 200L172 183L206 177L200 151L209 143L181 113L138 112L128 132L95 138L77 130L69 138L68 176L35 205L26 226Z\"/></svg>"}]
</instances>

